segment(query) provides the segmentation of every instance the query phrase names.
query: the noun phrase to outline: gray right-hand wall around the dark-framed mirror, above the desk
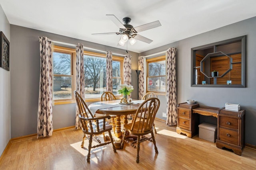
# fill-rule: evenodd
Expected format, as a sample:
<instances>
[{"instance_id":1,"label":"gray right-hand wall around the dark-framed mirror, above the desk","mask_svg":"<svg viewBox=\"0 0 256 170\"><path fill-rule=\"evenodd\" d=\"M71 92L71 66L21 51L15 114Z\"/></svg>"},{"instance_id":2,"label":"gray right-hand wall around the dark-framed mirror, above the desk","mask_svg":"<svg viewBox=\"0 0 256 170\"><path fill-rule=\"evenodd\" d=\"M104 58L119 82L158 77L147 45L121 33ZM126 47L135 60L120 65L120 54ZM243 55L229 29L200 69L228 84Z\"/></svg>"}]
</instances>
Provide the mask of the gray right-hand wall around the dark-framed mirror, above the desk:
<instances>
[{"instance_id":1,"label":"gray right-hand wall around the dark-framed mirror, above the desk","mask_svg":"<svg viewBox=\"0 0 256 170\"><path fill-rule=\"evenodd\" d=\"M188 99L200 105L223 107L225 103L240 104L246 109L245 143L256 145L256 17L240 21L219 29L170 43L139 56L164 51L169 47L178 49L176 59L178 103ZM246 88L191 87L191 48L246 35ZM162 103L166 100L161 100Z\"/></svg>"}]
</instances>

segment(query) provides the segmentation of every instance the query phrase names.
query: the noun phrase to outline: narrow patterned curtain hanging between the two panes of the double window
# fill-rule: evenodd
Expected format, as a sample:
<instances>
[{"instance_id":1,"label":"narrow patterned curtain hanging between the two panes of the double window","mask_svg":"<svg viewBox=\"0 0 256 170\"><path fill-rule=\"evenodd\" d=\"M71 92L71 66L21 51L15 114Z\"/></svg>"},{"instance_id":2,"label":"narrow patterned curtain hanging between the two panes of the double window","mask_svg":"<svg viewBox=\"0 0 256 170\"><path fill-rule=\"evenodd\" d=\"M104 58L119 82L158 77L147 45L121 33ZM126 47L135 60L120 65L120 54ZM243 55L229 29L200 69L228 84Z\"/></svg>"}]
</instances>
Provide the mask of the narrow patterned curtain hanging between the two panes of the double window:
<instances>
[{"instance_id":1,"label":"narrow patterned curtain hanging between the two panes of the double window","mask_svg":"<svg viewBox=\"0 0 256 170\"><path fill-rule=\"evenodd\" d=\"M112 92L112 52L107 51L106 53L106 91Z\"/></svg>"}]
</instances>

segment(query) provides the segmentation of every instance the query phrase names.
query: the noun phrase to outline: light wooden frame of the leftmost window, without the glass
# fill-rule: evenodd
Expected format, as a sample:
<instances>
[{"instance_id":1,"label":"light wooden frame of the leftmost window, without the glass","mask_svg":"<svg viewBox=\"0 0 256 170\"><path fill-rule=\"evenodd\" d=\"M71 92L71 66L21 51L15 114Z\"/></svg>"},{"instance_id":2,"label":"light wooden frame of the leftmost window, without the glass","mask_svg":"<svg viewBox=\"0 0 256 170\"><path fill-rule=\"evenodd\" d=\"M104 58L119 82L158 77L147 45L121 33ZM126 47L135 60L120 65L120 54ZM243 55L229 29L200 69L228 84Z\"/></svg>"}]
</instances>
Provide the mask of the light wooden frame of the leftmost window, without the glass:
<instances>
[{"instance_id":1,"label":"light wooden frame of the leftmost window, without the glass","mask_svg":"<svg viewBox=\"0 0 256 170\"><path fill-rule=\"evenodd\" d=\"M71 49L67 47L61 47L54 45L54 50L53 53L66 53L71 55L71 60L70 60L70 75L65 75L65 74L54 74L53 73L53 78L54 76L56 77L71 77L71 99L58 99L54 100L54 105L59 105L59 104L70 104L70 103L76 103L76 100L74 99L74 89L75 89L75 63L76 63L76 49ZM52 87L54 88L54 87ZM54 93L54 92L53 92ZM54 94L53 94L54 95Z\"/></svg>"}]
</instances>

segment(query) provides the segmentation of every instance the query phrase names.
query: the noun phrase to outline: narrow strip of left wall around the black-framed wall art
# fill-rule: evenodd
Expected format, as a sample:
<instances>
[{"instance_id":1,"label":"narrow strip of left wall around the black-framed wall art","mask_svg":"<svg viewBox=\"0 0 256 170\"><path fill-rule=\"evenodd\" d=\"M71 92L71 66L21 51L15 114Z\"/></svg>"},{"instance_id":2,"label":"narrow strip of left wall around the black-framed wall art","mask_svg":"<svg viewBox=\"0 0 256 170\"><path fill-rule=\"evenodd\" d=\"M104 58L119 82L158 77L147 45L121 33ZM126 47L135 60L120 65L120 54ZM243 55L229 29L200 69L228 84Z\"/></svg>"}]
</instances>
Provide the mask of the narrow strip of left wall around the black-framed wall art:
<instances>
[{"instance_id":1,"label":"narrow strip of left wall around the black-framed wall art","mask_svg":"<svg viewBox=\"0 0 256 170\"><path fill-rule=\"evenodd\" d=\"M0 6L0 31L10 42L10 23L7 20L2 6ZM10 55L10 58L12 56ZM12 67L12 63L10 63ZM0 68L0 155L11 139L11 114L10 114L10 71Z\"/></svg>"}]
</instances>

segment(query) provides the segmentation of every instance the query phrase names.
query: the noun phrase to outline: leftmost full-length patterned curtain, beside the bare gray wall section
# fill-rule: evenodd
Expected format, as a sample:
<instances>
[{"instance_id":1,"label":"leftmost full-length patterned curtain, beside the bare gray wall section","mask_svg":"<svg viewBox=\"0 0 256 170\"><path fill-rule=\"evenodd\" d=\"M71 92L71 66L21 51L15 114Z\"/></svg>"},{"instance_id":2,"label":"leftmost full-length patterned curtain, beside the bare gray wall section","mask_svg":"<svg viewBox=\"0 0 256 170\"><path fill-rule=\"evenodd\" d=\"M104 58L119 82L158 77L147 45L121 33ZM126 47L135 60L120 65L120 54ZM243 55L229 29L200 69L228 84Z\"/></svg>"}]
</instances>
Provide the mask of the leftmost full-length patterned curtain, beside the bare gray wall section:
<instances>
[{"instance_id":1,"label":"leftmost full-length patterned curtain, beside the bare gray wall section","mask_svg":"<svg viewBox=\"0 0 256 170\"><path fill-rule=\"evenodd\" d=\"M38 99L37 137L52 136L52 42L39 37L40 42L40 84Z\"/></svg>"}]
</instances>

